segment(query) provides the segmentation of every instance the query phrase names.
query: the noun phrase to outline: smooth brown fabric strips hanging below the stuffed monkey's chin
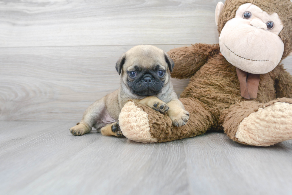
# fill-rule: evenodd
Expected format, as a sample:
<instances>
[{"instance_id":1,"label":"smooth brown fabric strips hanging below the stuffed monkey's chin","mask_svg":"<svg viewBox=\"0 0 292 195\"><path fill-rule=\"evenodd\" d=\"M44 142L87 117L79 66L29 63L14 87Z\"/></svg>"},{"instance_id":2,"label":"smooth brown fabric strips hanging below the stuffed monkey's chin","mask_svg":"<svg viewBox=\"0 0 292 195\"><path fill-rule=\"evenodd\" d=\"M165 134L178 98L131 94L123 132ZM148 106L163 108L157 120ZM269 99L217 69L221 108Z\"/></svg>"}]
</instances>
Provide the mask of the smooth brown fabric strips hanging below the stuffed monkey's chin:
<instances>
[{"instance_id":1,"label":"smooth brown fabric strips hanging below the stuffed monkey's chin","mask_svg":"<svg viewBox=\"0 0 292 195\"><path fill-rule=\"evenodd\" d=\"M251 74L236 68L238 80L240 82L240 95L245 99L257 98L257 90L260 83L259 74Z\"/></svg>"}]
</instances>

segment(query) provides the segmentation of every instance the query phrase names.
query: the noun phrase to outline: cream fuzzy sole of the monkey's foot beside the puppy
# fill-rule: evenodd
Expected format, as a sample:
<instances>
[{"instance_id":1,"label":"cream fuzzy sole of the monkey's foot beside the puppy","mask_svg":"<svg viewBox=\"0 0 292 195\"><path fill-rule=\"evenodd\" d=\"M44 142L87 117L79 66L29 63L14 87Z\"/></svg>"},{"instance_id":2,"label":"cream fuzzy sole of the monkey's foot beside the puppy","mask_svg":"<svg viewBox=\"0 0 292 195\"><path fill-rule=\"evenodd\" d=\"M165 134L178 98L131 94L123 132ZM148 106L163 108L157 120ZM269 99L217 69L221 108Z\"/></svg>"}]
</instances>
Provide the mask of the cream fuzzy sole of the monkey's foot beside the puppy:
<instances>
[{"instance_id":1,"label":"cream fuzzy sole of the monkey's foot beside the puppy","mask_svg":"<svg viewBox=\"0 0 292 195\"><path fill-rule=\"evenodd\" d=\"M156 142L150 134L148 114L136 107L134 102L128 102L119 115L119 125L126 138L137 142Z\"/></svg>"}]
</instances>

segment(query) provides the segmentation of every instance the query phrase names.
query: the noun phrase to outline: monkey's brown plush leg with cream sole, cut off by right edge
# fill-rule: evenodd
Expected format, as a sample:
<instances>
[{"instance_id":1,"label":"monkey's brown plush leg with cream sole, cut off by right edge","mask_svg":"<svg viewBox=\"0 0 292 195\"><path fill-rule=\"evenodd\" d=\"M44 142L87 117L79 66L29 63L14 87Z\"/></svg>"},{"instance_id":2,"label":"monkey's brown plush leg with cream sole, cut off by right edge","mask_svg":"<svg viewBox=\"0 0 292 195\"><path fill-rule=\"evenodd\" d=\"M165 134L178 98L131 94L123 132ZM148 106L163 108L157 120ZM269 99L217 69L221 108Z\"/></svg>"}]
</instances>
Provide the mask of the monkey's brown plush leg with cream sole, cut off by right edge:
<instances>
[{"instance_id":1,"label":"monkey's brown plush leg with cream sole, cut off by right edge","mask_svg":"<svg viewBox=\"0 0 292 195\"><path fill-rule=\"evenodd\" d=\"M252 146L271 146L292 139L292 99L262 104L244 101L224 110L224 132L234 141Z\"/></svg>"}]
</instances>

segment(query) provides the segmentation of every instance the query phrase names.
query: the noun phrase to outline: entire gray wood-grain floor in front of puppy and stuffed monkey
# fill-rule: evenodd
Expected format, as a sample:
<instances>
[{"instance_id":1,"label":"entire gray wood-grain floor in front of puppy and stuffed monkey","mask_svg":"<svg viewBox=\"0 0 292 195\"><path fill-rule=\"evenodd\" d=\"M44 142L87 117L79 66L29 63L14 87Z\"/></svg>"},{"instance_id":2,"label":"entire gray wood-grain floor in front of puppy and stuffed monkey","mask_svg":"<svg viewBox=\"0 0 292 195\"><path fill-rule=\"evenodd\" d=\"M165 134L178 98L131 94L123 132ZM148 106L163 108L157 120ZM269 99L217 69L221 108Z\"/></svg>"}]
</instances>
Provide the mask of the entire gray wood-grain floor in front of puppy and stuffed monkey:
<instances>
[{"instance_id":1,"label":"entire gray wood-grain floor in front of puppy and stuffed monkey","mask_svg":"<svg viewBox=\"0 0 292 195\"><path fill-rule=\"evenodd\" d=\"M0 123L0 194L292 193L292 141L244 146L224 133L137 143L74 122Z\"/></svg>"}]
</instances>

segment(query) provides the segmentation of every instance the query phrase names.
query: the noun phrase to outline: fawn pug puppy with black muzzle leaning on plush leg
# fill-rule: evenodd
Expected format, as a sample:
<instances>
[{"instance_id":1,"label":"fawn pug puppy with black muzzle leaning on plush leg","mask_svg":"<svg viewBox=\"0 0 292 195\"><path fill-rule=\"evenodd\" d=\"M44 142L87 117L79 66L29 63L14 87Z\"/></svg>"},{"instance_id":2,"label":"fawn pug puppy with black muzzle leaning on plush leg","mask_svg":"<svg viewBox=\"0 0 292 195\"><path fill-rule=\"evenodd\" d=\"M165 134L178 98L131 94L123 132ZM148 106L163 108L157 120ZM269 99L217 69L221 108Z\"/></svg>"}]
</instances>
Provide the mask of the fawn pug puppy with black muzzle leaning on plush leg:
<instances>
[{"instance_id":1,"label":"fawn pug puppy with black muzzle leaning on plush leg","mask_svg":"<svg viewBox=\"0 0 292 195\"><path fill-rule=\"evenodd\" d=\"M91 104L82 120L70 128L73 135L83 135L92 127L102 135L122 136L118 118L129 100L147 105L167 115L174 126L185 125L190 114L173 89L170 72L174 63L163 50L151 45L138 45L124 53L116 63L120 88Z\"/></svg>"}]
</instances>

